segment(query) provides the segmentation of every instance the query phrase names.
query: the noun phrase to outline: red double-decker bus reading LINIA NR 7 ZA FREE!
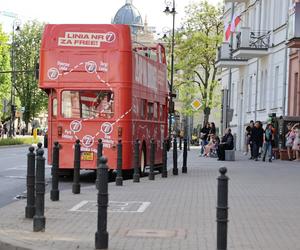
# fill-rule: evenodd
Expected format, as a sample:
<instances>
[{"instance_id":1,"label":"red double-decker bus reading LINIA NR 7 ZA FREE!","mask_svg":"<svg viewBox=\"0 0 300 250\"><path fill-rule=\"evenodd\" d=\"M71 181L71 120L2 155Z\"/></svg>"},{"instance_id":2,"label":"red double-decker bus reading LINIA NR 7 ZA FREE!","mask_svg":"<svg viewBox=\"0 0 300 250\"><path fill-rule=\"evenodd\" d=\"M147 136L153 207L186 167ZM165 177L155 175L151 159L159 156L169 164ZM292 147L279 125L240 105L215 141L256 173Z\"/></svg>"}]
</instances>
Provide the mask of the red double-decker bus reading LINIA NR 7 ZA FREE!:
<instances>
[{"instance_id":1,"label":"red double-decker bus reading LINIA NR 7 ZA FREE!","mask_svg":"<svg viewBox=\"0 0 300 250\"><path fill-rule=\"evenodd\" d=\"M74 143L81 142L81 168L95 169L97 141L111 170L117 143L123 144L123 169L133 168L140 140L141 171L156 143L162 163L167 137L168 86L165 49L132 42L127 25L46 25L40 54L39 86L49 96L48 163L54 141L61 145L60 168L72 169Z\"/></svg>"}]
</instances>

